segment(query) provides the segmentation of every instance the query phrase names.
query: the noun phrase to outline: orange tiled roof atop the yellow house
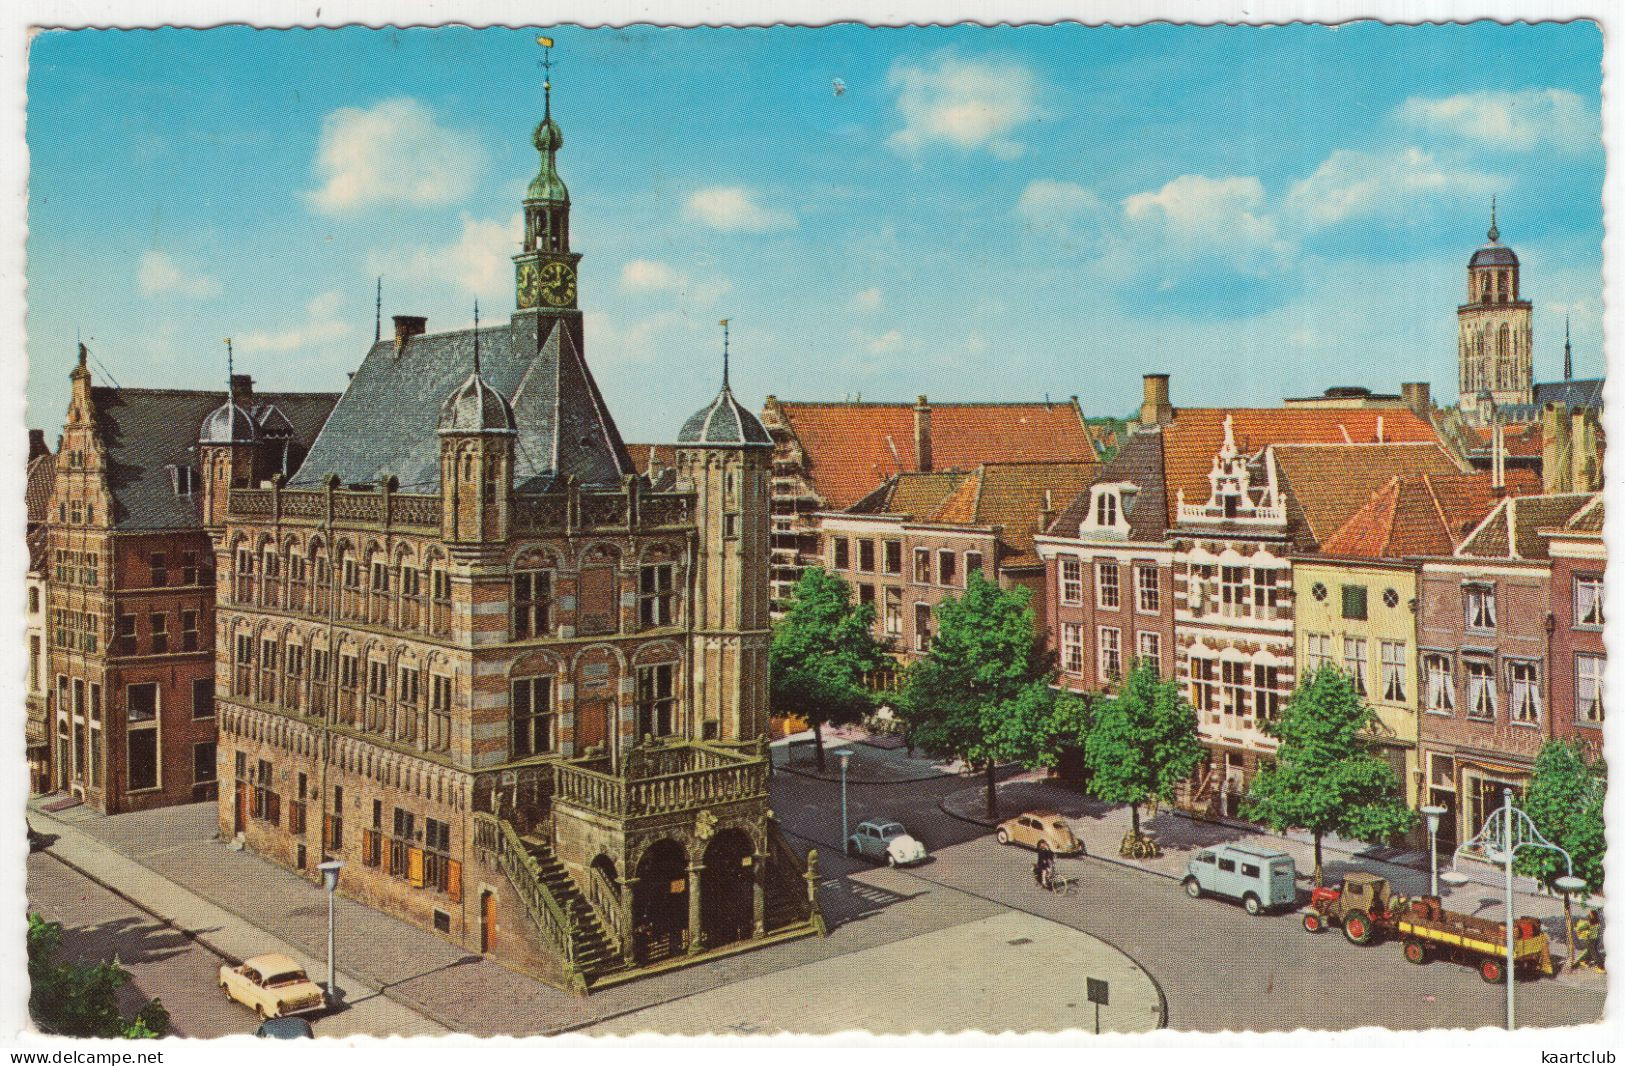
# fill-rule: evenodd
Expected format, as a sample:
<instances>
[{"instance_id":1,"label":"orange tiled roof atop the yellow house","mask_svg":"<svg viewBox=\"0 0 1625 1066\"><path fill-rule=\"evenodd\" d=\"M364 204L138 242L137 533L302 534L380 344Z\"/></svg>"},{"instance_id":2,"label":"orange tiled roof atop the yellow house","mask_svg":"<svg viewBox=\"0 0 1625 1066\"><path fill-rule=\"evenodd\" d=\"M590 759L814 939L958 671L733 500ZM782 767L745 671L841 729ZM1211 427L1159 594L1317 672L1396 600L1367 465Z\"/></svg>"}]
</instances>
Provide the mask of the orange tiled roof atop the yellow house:
<instances>
[{"instance_id":1,"label":"orange tiled roof atop the yellow house","mask_svg":"<svg viewBox=\"0 0 1625 1066\"><path fill-rule=\"evenodd\" d=\"M1539 491L1529 470L1508 470L1505 491L1485 471L1389 478L1320 549L1358 559L1448 556L1503 496Z\"/></svg>"}]
</instances>

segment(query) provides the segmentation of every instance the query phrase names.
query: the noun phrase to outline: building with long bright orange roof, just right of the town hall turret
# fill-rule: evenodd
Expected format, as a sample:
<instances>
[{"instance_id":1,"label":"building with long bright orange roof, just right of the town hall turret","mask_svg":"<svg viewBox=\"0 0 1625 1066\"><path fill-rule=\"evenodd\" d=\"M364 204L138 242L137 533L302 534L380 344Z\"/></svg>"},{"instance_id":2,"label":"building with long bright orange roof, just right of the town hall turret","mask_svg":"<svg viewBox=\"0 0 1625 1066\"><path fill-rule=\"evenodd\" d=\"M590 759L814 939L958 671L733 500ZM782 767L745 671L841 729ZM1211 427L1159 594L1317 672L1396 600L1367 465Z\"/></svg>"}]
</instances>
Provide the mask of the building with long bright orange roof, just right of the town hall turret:
<instances>
[{"instance_id":1,"label":"building with long bright orange roof, just right of the town hall turret","mask_svg":"<svg viewBox=\"0 0 1625 1066\"><path fill-rule=\"evenodd\" d=\"M904 473L982 463L1092 463L1077 396L1066 403L798 403L767 396L774 439L772 601L824 557L816 515L847 510Z\"/></svg>"}]
</instances>

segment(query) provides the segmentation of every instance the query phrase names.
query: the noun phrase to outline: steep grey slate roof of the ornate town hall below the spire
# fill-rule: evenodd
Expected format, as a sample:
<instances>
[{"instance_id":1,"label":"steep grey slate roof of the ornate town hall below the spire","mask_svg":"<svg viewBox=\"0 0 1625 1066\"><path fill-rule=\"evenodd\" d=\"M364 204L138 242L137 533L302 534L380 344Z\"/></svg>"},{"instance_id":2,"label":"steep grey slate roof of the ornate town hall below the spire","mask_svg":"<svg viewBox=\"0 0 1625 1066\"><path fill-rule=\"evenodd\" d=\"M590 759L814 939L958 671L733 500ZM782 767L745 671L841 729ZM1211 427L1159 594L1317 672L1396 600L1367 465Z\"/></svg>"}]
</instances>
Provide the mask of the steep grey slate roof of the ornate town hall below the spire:
<instances>
[{"instance_id":1,"label":"steep grey slate roof of the ornate town hall below the spire","mask_svg":"<svg viewBox=\"0 0 1625 1066\"><path fill-rule=\"evenodd\" d=\"M634 471L580 343L559 322L518 314L509 325L479 330L479 372L518 426L518 491L544 489L559 474L606 484ZM436 413L473 366L474 330L424 333L400 351L393 338L377 341L292 484L315 486L335 473L343 484L393 476L403 492L439 491Z\"/></svg>"}]
</instances>

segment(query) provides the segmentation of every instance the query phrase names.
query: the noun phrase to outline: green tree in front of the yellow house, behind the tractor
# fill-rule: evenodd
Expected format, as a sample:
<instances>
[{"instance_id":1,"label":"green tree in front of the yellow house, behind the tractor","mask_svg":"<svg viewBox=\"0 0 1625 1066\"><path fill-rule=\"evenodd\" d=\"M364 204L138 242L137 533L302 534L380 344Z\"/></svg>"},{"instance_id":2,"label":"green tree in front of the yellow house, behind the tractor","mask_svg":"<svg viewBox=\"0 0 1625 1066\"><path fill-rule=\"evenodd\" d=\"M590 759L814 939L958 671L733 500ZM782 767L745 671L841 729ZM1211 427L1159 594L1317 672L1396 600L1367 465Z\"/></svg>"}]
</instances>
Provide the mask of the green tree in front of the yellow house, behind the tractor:
<instances>
[{"instance_id":1,"label":"green tree in front of the yellow house, behind the tractor","mask_svg":"<svg viewBox=\"0 0 1625 1066\"><path fill-rule=\"evenodd\" d=\"M1375 723L1376 712L1334 666L1315 671L1280 717L1264 723L1280 748L1276 764L1253 778L1242 814L1276 832L1308 830L1315 837L1315 884L1324 876L1326 834L1383 843L1417 821L1393 767L1372 749L1368 730Z\"/></svg>"}]
</instances>

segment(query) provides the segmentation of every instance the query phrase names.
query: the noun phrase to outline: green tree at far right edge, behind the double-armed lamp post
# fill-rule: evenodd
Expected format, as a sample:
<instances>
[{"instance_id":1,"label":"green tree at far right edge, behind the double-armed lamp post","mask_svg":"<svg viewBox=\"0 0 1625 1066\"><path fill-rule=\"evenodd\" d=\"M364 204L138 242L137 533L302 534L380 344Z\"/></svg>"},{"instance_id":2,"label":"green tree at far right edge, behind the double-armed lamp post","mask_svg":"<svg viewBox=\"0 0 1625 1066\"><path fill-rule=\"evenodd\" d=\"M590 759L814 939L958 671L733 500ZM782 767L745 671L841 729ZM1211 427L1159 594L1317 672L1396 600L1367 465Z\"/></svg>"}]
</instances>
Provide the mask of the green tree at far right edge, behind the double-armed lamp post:
<instances>
[{"instance_id":1,"label":"green tree at far right edge, behind the double-armed lamp post","mask_svg":"<svg viewBox=\"0 0 1625 1066\"><path fill-rule=\"evenodd\" d=\"M1563 848L1575 860L1575 876L1591 892L1602 892L1602 856L1607 838L1602 832L1602 798L1607 769L1592 760L1575 741L1547 741L1534 760L1534 780L1523 800L1523 809L1540 835ZM1568 873L1563 856L1545 848L1518 853L1518 873L1550 886Z\"/></svg>"}]
</instances>

